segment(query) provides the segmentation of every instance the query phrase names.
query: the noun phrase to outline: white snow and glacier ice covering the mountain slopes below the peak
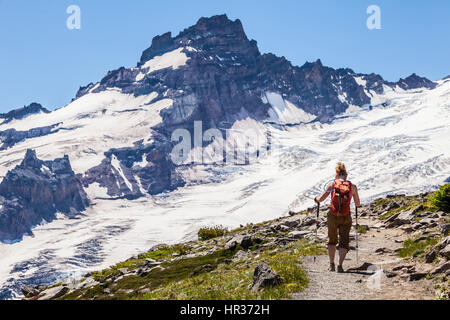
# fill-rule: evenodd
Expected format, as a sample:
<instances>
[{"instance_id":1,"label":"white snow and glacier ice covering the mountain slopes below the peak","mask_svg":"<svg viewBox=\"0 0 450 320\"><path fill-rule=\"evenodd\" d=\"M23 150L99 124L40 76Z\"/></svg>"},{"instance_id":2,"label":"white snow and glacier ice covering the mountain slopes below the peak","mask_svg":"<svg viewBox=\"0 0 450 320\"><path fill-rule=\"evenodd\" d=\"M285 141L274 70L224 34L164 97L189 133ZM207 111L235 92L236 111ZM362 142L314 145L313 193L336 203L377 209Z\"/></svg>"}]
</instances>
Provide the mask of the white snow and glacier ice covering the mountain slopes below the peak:
<instances>
[{"instance_id":1,"label":"white snow and glacier ice covering the mountain slopes below the peak","mask_svg":"<svg viewBox=\"0 0 450 320\"><path fill-rule=\"evenodd\" d=\"M432 90L373 94L382 105L349 109L328 124L280 127L250 119L236 122L235 132L254 127L279 148L246 166L181 167L188 184L172 192L106 200L102 199L106 190L90 184L86 191L94 203L83 216L61 217L35 228L33 237L0 245L0 297L14 297L23 283L80 275L153 244L192 239L201 226L236 227L310 207L313 197L333 178L336 161L345 162L363 201L387 193L434 189L450 176L450 81L437 84ZM158 111L171 104L152 102L152 94L135 98L116 91L82 99L52 113L50 120L37 114L2 125L0 130L54 123L66 128L48 140L45 136L26 140L3 151L2 166L11 167L33 147L43 158L68 153L75 170L83 172L101 161L99 154L111 145L127 146L149 138L150 126L160 121ZM275 93L267 99L277 108L278 120L312 120L302 112L293 114L295 107L282 103ZM145 166L146 160L142 161ZM125 174L114 156L112 166Z\"/></svg>"}]
</instances>

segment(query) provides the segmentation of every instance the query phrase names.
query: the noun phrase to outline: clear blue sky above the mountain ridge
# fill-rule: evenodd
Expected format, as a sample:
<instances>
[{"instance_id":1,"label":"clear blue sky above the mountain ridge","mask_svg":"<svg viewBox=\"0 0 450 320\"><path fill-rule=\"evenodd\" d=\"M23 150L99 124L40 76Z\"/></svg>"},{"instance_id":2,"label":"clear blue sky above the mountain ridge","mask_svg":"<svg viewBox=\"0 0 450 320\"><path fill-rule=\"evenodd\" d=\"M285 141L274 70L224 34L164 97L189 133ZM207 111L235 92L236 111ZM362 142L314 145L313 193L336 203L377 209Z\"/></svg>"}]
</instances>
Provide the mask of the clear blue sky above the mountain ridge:
<instances>
[{"instance_id":1,"label":"clear blue sky above the mountain ridge","mask_svg":"<svg viewBox=\"0 0 450 320\"><path fill-rule=\"evenodd\" d=\"M66 27L72 4L81 8L81 30ZM381 8L381 30L366 27L372 4ZM0 0L0 112L33 101L64 106L80 86L135 66L153 36L223 13L242 21L262 53L295 65L320 58L390 81L450 74L447 0Z\"/></svg>"}]
</instances>

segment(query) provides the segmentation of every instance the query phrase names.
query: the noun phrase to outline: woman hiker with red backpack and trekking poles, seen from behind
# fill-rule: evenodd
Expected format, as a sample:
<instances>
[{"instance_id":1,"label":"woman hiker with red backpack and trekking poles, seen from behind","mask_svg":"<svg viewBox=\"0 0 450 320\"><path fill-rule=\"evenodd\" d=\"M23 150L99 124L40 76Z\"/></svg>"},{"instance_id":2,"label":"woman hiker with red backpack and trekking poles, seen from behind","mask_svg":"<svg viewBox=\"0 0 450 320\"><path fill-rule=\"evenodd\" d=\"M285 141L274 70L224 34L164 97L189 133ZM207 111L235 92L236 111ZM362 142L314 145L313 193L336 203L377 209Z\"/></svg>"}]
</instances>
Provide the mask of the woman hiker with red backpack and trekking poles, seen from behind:
<instances>
[{"instance_id":1,"label":"woman hiker with red backpack and trekking poles, seen from behind","mask_svg":"<svg viewBox=\"0 0 450 320\"><path fill-rule=\"evenodd\" d=\"M336 166L336 179L327 185L326 191L316 197L314 201L320 203L331 193L331 206L328 212L328 255L330 256L330 271L335 271L334 256L336 245L339 244L338 272L344 272L342 263L350 250L350 230L352 228L352 217L350 215L350 203L354 199L355 206L359 207L358 189L347 180L347 170L342 162ZM358 227L358 226L356 226ZM338 237L339 236L339 237Z\"/></svg>"}]
</instances>

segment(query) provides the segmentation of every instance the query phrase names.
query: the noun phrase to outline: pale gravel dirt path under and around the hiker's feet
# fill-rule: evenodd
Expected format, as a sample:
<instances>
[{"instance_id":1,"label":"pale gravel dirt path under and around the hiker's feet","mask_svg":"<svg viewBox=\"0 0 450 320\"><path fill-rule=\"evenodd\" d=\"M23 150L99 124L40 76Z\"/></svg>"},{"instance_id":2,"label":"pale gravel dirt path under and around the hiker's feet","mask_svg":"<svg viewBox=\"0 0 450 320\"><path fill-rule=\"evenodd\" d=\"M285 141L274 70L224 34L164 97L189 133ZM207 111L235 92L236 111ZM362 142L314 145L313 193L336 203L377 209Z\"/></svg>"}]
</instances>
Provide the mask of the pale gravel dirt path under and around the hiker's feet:
<instances>
[{"instance_id":1,"label":"pale gravel dirt path under and around the hiker's feet","mask_svg":"<svg viewBox=\"0 0 450 320\"><path fill-rule=\"evenodd\" d=\"M308 288L292 295L295 300L408 300L435 299L436 292L431 281L425 279L408 281L401 273L393 276L394 267L410 264L399 258L396 249L401 248L407 239L404 231L384 229L377 226L379 221L373 218L360 218L360 225L368 225L370 230L359 235L359 263L355 250L350 250L344 262L345 273L328 271L328 255L303 260L303 267L308 273ZM326 227L319 229L319 237L326 238ZM351 231L350 246L355 246L355 229ZM336 254L336 263L338 257ZM363 263L374 266L368 270L352 270ZM366 269L364 267L363 269ZM377 271L377 269L379 271ZM381 270L382 269L382 270ZM425 270L426 271L426 270Z\"/></svg>"}]
</instances>

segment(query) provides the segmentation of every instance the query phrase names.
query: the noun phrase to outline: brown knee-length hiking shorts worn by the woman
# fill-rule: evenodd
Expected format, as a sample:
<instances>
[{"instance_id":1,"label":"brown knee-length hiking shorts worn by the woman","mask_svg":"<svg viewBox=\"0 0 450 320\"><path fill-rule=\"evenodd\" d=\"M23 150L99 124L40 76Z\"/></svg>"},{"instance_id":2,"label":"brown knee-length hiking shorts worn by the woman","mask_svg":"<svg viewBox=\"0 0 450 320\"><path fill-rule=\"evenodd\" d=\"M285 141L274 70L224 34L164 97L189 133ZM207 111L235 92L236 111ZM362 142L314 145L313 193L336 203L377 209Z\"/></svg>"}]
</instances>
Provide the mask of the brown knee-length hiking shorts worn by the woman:
<instances>
[{"instance_id":1,"label":"brown knee-length hiking shorts worn by the woman","mask_svg":"<svg viewBox=\"0 0 450 320\"><path fill-rule=\"evenodd\" d=\"M339 248L350 250L350 230L352 229L352 217L334 216L328 212L328 244L337 245Z\"/></svg>"}]
</instances>

